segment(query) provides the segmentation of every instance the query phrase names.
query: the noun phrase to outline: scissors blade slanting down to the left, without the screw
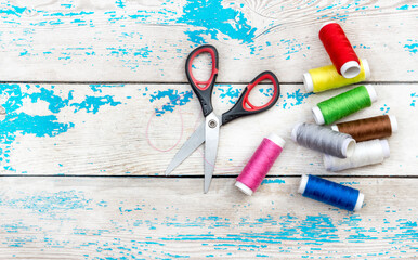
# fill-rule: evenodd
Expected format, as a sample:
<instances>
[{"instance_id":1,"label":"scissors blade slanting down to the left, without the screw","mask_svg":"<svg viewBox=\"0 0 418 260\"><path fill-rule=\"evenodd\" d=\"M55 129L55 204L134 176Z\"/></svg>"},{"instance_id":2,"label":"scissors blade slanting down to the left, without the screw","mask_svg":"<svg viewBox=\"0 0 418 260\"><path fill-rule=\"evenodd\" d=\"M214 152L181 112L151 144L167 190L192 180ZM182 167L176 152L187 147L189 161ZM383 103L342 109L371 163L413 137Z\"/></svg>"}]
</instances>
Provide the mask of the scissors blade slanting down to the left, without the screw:
<instances>
[{"instance_id":1,"label":"scissors blade slanting down to the left, without the screw","mask_svg":"<svg viewBox=\"0 0 418 260\"><path fill-rule=\"evenodd\" d=\"M205 122L201 122L196 131L188 138L183 146L172 158L170 165L166 169L166 176L170 174L185 158L187 158L197 147L205 142Z\"/></svg>"}]
</instances>

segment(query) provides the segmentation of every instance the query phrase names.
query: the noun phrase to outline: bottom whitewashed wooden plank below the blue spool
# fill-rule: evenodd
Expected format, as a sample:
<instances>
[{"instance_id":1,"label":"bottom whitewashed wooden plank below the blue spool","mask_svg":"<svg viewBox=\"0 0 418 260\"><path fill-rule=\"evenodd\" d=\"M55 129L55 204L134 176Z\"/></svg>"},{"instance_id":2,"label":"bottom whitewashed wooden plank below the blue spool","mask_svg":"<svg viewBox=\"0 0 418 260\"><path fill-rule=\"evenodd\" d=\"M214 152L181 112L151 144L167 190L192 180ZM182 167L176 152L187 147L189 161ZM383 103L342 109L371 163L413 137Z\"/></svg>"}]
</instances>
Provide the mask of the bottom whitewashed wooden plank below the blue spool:
<instances>
[{"instance_id":1,"label":"bottom whitewashed wooden plank below the blue spool","mask_svg":"<svg viewBox=\"0 0 418 260\"><path fill-rule=\"evenodd\" d=\"M233 179L2 178L2 259L415 259L417 179L339 178L365 206L302 197L299 178L254 196ZM220 203L222 202L222 203Z\"/></svg>"}]
</instances>

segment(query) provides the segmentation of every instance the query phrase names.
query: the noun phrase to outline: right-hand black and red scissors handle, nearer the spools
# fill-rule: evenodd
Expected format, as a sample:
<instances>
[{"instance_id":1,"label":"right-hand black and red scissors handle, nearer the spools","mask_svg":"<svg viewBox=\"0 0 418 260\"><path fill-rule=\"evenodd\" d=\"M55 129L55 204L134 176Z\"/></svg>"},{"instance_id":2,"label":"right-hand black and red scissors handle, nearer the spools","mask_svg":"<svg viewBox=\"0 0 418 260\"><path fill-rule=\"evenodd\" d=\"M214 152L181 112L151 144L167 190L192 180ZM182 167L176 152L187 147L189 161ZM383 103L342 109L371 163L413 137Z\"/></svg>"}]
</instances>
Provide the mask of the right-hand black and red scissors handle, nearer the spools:
<instances>
[{"instance_id":1,"label":"right-hand black and red scissors handle, nearer the spools","mask_svg":"<svg viewBox=\"0 0 418 260\"><path fill-rule=\"evenodd\" d=\"M248 100L251 90L261 81L270 80L273 83L273 95L272 99L262 106L256 106L251 104ZM243 91L236 104L227 112L222 114L222 125L230 122L238 117L253 115L260 112L264 112L272 106L274 106L280 96L280 86L278 83L278 79L276 75L272 72L263 72L259 76L257 76Z\"/></svg>"}]
</instances>

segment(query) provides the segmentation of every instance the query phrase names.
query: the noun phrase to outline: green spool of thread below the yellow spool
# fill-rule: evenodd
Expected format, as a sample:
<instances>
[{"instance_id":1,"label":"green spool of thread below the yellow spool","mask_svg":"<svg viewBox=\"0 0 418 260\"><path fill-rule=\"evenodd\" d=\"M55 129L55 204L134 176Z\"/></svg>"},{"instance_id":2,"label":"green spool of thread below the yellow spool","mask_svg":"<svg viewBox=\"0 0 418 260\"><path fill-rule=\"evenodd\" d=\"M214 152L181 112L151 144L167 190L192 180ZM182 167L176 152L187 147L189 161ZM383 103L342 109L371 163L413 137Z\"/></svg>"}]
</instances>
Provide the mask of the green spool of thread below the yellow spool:
<instances>
[{"instance_id":1,"label":"green spool of thread below the yellow spool","mask_svg":"<svg viewBox=\"0 0 418 260\"><path fill-rule=\"evenodd\" d=\"M312 113L317 125L328 125L371 106L371 103L376 101L375 88L360 86L318 103L312 107Z\"/></svg>"}]
</instances>

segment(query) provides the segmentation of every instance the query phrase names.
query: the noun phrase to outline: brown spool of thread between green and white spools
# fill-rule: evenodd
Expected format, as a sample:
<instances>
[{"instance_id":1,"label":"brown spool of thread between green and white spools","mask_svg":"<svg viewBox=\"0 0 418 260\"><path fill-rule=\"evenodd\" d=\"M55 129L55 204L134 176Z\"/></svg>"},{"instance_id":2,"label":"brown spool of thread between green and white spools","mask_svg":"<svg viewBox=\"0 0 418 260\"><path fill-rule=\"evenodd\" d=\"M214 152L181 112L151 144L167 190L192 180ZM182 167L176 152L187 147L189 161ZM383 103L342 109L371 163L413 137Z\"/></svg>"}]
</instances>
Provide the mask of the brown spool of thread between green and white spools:
<instances>
[{"instance_id":1,"label":"brown spool of thread between green and white spools","mask_svg":"<svg viewBox=\"0 0 418 260\"><path fill-rule=\"evenodd\" d=\"M377 116L354 121L340 122L331 126L335 131L348 133L356 142L382 139L397 132L395 116Z\"/></svg>"}]
</instances>

